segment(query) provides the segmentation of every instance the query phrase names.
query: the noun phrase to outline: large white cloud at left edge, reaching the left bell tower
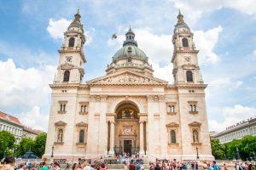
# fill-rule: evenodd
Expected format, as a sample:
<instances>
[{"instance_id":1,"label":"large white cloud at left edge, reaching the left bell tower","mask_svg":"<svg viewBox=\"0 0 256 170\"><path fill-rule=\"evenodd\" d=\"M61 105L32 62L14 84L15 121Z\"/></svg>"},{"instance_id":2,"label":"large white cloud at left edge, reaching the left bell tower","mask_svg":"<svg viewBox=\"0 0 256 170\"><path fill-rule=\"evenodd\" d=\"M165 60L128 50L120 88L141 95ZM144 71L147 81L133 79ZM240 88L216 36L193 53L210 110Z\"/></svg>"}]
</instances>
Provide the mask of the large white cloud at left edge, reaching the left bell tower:
<instances>
[{"instance_id":1,"label":"large white cloud at left edge, reaching the left bell tower","mask_svg":"<svg viewBox=\"0 0 256 170\"><path fill-rule=\"evenodd\" d=\"M48 84L53 81L55 66L43 68L17 68L13 59L0 60L0 96L4 99L0 106L14 104L37 105L49 96Z\"/></svg>"}]
</instances>

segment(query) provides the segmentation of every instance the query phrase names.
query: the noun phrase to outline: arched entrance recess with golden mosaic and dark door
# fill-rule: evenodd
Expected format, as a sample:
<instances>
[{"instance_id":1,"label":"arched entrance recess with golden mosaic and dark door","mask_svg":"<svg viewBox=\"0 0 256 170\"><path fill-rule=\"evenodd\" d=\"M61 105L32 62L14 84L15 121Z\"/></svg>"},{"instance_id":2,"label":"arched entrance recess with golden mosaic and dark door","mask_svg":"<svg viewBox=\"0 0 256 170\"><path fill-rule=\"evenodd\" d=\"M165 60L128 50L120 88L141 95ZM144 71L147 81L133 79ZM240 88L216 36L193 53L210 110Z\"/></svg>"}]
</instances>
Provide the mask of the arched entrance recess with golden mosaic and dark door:
<instances>
[{"instance_id":1,"label":"arched entrance recess with golden mosaic and dark door","mask_svg":"<svg viewBox=\"0 0 256 170\"><path fill-rule=\"evenodd\" d=\"M115 110L114 151L130 156L139 152L139 110L131 101L121 102Z\"/></svg>"}]
</instances>

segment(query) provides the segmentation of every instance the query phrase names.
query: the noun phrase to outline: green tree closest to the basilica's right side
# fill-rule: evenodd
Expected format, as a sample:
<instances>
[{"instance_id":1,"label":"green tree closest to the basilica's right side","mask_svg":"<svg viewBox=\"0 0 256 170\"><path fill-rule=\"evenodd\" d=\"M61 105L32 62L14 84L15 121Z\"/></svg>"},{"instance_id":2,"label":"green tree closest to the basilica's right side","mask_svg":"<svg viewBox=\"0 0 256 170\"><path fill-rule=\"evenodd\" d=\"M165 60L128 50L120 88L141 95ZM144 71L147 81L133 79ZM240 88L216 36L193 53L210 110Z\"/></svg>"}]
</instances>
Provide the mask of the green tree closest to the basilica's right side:
<instances>
[{"instance_id":1,"label":"green tree closest to the basilica's right side","mask_svg":"<svg viewBox=\"0 0 256 170\"><path fill-rule=\"evenodd\" d=\"M224 144L220 144L218 139L211 139L212 156L215 159L224 159Z\"/></svg>"}]
</instances>

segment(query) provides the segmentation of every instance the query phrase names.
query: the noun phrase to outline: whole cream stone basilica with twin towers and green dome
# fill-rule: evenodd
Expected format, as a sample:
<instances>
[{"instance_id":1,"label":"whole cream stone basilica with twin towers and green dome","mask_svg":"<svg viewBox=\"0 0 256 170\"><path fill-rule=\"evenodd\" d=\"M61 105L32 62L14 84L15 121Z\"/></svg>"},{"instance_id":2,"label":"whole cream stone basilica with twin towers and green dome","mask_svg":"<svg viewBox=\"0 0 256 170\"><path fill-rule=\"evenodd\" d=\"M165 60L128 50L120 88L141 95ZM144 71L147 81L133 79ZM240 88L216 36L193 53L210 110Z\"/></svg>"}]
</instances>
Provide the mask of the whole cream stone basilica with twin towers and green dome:
<instances>
[{"instance_id":1,"label":"whole cream stone basilica with twin towers and green dome","mask_svg":"<svg viewBox=\"0 0 256 170\"><path fill-rule=\"evenodd\" d=\"M174 84L154 77L131 28L125 37L106 75L82 83L85 37L80 14L74 15L50 84L44 157L49 158L52 151L55 159L67 160L126 152L188 160L196 159L198 150L200 159L214 159L207 127L207 84L183 15L178 14L172 37Z\"/></svg>"}]
</instances>

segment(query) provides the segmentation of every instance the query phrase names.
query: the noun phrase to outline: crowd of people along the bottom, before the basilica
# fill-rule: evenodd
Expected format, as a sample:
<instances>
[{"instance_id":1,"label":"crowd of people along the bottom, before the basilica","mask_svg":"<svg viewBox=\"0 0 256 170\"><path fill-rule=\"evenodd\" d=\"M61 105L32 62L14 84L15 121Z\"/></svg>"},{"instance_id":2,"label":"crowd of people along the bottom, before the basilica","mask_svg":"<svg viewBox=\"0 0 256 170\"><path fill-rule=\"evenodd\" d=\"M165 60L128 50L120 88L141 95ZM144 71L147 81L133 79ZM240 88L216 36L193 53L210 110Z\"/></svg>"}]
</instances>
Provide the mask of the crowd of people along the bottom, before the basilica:
<instances>
[{"instance_id":1,"label":"crowd of people along the bottom, before the basilica","mask_svg":"<svg viewBox=\"0 0 256 170\"><path fill-rule=\"evenodd\" d=\"M124 165L125 170L143 170L143 159L140 156L119 155L114 157L119 164ZM254 165L255 166L255 165ZM148 167L148 166L147 166ZM23 162L16 165L15 158L12 156L6 157L0 164L0 170L107 170L108 163L103 158L97 161L76 162L73 164L59 165L54 161L51 164ZM251 162L236 162L234 166L227 166L225 163L220 167L216 161L201 162L197 161L177 161L173 160L156 160L149 162L149 170L255 170Z\"/></svg>"}]
</instances>

